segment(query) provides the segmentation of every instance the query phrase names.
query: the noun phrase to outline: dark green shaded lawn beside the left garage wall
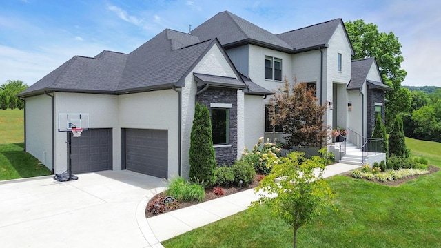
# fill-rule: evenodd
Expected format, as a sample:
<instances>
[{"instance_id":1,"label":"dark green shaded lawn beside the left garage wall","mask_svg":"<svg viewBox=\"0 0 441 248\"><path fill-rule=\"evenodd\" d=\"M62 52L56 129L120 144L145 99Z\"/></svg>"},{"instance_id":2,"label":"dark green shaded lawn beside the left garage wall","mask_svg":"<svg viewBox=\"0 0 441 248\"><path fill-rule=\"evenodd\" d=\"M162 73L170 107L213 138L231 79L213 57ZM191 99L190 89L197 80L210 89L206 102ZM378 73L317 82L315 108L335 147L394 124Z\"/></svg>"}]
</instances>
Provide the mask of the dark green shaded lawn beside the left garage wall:
<instances>
[{"instance_id":1,"label":"dark green shaded lawn beside the left garage wall","mask_svg":"<svg viewBox=\"0 0 441 248\"><path fill-rule=\"evenodd\" d=\"M37 158L23 152L23 143L0 144L0 180L50 175Z\"/></svg>"}]
</instances>

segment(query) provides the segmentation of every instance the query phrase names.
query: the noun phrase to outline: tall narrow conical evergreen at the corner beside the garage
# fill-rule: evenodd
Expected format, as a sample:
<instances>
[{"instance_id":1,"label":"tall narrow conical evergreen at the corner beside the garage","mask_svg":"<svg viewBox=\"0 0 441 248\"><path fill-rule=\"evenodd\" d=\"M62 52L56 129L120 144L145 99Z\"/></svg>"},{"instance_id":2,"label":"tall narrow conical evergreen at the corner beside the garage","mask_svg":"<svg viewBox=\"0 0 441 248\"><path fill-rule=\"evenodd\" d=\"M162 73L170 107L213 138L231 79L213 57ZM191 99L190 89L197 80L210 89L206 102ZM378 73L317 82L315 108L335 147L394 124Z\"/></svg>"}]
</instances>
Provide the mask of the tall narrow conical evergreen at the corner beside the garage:
<instances>
[{"instance_id":1,"label":"tall narrow conical evergreen at the corner beside the garage","mask_svg":"<svg viewBox=\"0 0 441 248\"><path fill-rule=\"evenodd\" d=\"M216 183L216 154L212 140L212 123L207 106L196 103L190 136L190 180L211 187Z\"/></svg>"}]
</instances>

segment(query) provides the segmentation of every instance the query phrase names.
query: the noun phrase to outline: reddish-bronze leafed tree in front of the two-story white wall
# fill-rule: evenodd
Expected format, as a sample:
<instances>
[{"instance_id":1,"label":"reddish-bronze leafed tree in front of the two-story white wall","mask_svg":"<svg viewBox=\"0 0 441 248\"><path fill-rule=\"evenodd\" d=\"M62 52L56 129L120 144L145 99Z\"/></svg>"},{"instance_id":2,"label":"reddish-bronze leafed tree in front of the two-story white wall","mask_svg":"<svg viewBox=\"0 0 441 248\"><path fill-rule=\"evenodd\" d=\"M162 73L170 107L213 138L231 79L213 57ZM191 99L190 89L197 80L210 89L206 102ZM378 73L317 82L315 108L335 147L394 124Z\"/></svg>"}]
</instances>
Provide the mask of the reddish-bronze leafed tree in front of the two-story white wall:
<instances>
[{"instance_id":1,"label":"reddish-bronze leafed tree in front of the two-story white wall","mask_svg":"<svg viewBox=\"0 0 441 248\"><path fill-rule=\"evenodd\" d=\"M283 87L271 98L271 123L282 127L287 149L296 145L321 147L326 142L326 106L318 105L314 92L306 83L294 83L291 87L285 77Z\"/></svg>"}]
</instances>

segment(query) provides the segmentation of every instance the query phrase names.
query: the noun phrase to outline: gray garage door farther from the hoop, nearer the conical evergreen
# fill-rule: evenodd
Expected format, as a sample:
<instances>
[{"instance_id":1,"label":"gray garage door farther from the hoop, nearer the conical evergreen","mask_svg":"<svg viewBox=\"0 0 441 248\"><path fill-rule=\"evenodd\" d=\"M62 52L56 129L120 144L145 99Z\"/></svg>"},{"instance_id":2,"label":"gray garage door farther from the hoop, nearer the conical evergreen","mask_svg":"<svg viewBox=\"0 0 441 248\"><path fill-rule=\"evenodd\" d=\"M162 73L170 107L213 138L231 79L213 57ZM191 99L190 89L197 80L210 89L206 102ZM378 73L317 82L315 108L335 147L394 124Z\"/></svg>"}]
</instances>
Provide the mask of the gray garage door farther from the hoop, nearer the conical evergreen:
<instances>
[{"instance_id":1,"label":"gray garage door farther from the hoop, nearer the conical evergreen","mask_svg":"<svg viewBox=\"0 0 441 248\"><path fill-rule=\"evenodd\" d=\"M167 178L167 130L125 130L125 169Z\"/></svg>"}]
</instances>

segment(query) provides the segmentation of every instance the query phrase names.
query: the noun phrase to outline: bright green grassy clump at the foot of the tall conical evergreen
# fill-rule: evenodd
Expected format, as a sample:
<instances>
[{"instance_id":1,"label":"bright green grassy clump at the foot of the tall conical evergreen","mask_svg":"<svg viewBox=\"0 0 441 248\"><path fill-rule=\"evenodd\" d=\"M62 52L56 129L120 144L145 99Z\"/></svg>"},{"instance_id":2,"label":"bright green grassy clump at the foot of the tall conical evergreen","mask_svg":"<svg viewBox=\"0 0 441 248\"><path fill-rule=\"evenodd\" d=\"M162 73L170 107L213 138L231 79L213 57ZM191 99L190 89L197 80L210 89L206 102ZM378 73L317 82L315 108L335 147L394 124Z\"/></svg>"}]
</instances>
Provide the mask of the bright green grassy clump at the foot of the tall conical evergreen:
<instances>
[{"instance_id":1,"label":"bright green grassy clump at the foot of the tall conical evergreen","mask_svg":"<svg viewBox=\"0 0 441 248\"><path fill-rule=\"evenodd\" d=\"M202 185L189 183L187 180L178 176L170 180L167 194L176 200L201 202L205 198L205 190Z\"/></svg>"}]
</instances>

